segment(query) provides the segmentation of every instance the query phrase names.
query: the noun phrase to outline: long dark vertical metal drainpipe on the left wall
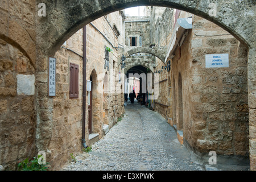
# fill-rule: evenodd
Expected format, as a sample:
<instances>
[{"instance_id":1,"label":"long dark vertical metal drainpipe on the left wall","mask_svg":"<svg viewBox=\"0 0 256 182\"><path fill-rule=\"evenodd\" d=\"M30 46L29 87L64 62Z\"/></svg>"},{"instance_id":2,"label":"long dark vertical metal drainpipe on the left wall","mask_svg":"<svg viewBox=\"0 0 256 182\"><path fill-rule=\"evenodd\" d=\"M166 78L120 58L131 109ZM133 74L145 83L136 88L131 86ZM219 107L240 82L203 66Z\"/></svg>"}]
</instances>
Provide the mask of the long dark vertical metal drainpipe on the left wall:
<instances>
[{"instance_id":1,"label":"long dark vertical metal drainpipe on the left wall","mask_svg":"<svg viewBox=\"0 0 256 182\"><path fill-rule=\"evenodd\" d=\"M86 110L86 26L83 28L83 53L82 67L82 147L87 148L85 143L85 110Z\"/></svg>"}]
</instances>

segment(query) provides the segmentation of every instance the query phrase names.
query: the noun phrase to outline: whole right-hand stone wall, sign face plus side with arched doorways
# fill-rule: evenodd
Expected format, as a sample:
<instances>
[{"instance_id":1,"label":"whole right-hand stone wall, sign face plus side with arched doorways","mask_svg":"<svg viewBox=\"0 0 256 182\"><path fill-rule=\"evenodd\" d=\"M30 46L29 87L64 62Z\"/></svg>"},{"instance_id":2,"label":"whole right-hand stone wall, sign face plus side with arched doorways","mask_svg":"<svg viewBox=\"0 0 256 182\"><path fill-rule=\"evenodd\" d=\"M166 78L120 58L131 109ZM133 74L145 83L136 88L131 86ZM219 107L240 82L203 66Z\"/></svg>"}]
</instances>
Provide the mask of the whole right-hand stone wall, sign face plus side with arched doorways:
<instances>
[{"instance_id":1,"label":"whole right-hand stone wall, sign face plus side with arched doorways","mask_svg":"<svg viewBox=\"0 0 256 182\"><path fill-rule=\"evenodd\" d=\"M166 22L166 14L175 13L164 11L155 24ZM182 11L179 14L179 18L188 16L191 15ZM156 32L156 37L170 37L166 32L172 29ZM164 39L159 46L168 43ZM210 53L229 53L229 68L205 68L205 54ZM159 74L160 97L156 102L160 104L156 104L156 111L172 119L176 129L183 131L187 146L195 152L214 150L217 154L248 156L246 48L216 24L193 15L193 28L174 55L167 59L171 60L171 72L161 69L163 62L156 60L156 70L163 71Z\"/></svg>"}]
</instances>

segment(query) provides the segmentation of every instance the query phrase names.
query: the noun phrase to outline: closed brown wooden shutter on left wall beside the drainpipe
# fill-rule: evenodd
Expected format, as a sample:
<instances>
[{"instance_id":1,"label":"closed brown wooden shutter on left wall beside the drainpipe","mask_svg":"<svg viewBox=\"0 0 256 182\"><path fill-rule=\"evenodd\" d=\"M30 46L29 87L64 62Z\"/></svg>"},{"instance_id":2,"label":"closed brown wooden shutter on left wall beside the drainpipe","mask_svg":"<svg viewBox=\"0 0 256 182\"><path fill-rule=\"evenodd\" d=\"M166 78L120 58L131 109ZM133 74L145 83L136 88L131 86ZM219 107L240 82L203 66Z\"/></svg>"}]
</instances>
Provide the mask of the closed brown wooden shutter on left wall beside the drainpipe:
<instances>
[{"instance_id":1,"label":"closed brown wooden shutter on left wall beside the drainpipe","mask_svg":"<svg viewBox=\"0 0 256 182\"><path fill-rule=\"evenodd\" d=\"M79 65L70 63L69 98L79 98Z\"/></svg>"}]
</instances>

